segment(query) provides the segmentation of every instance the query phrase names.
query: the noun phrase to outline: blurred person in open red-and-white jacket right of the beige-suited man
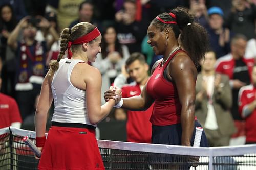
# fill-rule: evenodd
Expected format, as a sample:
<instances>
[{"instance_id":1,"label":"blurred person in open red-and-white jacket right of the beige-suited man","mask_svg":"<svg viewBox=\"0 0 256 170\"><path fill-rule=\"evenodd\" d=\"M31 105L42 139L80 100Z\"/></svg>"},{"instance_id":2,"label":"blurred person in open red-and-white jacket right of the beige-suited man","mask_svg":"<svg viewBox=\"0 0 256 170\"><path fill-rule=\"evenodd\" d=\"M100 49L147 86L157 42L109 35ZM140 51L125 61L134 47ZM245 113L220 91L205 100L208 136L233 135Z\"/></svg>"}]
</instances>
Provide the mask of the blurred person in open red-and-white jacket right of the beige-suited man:
<instances>
[{"instance_id":1,"label":"blurred person in open red-and-white jacket right of the beige-suited man","mask_svg":"<svg viewBox=\"0 0 256 170\"><path fill-rule=\"evenodd\" d=\"M237 133L233 134L230 145L240 145L245 142L245 124L238 111L239 89L251 83L251 72L254 59L246 59L247 39L242 34L235 35L231 40L231 53L219 58L216 62L216 72L226 74L232 88L231 114L237 127Z\"/></svg>"}]
</instances>

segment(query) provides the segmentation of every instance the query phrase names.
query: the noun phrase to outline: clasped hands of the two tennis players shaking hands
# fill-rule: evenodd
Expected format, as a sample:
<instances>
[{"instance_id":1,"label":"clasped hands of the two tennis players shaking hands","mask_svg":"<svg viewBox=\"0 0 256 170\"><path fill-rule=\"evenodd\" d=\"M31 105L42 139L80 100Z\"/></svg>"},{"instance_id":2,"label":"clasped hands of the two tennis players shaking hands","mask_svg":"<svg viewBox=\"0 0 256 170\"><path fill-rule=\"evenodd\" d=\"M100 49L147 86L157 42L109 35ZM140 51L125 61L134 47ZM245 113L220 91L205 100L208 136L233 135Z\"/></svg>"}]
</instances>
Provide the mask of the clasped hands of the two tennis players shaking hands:
<instances>
[{"instance_id":1,"label":"clasped hands of the two tennis players shaking hands","mask_svg":"<svg viewBox=\"0 0 256 170\"><path fill-rule=\"evenodd\" d=\"M122 90L118 87L110 86L110 89L105 91L104 93L104 99L106 102L108 102L111 99L114 99L115 100L114 107L120 108L123 105Z\"/></svg>"}]
</instances>

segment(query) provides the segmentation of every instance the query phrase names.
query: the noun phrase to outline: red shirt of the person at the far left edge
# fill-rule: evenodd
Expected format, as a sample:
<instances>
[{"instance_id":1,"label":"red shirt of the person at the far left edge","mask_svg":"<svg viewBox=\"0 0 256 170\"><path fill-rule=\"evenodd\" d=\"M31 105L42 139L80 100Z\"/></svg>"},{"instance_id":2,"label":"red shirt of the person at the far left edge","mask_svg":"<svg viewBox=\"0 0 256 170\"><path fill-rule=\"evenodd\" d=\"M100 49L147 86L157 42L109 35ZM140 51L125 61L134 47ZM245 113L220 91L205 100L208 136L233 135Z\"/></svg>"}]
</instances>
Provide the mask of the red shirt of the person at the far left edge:
<instances>
[{"instance_id":1,"label":"red shirt of the person at the far left edge","mask_svg":"<svg viewBox=\"0 0 256 170\"><path fill-rule=\"evenodd\" d=\"M14 122L22 122L18 105L13 98L0 93L0 128L9 127Z\"/></svg>"}]
</instances>

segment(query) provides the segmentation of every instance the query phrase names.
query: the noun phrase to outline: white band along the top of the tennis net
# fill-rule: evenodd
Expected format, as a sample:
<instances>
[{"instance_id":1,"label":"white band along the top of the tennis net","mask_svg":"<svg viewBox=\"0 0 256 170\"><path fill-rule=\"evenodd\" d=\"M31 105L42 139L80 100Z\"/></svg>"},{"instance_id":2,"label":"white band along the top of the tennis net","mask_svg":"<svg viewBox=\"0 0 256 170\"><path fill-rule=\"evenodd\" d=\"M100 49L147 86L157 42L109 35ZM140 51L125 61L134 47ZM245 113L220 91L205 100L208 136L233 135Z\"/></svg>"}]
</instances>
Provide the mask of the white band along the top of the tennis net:
<instances>
[{"instance_id":1,"label":"white band along the top of the tennis net","mask_svg":"<svg viewBox=\"0 0 256 170\"><path fill-rule=\"evenodd\" d=\"M35 138L34 131L28 131L18 129L16 127L10 127L13 134L20 136L28 136L29 138ZM0 129L0 134L8 133L9 127ZM46 134L47 136L47 134ZM162 153L162 154L177 154L177 155L191 155L191 156L239 156L244 154L255 154L256 144L247 144L239 146L229 147L186 147L177 145L165 145L165 144L147 144L147 143L131 143L131 142L119 142L110 140L99 140L99 148L119 149L138 152L150 152L150 153Z\"/></svg>"}]
</instances>

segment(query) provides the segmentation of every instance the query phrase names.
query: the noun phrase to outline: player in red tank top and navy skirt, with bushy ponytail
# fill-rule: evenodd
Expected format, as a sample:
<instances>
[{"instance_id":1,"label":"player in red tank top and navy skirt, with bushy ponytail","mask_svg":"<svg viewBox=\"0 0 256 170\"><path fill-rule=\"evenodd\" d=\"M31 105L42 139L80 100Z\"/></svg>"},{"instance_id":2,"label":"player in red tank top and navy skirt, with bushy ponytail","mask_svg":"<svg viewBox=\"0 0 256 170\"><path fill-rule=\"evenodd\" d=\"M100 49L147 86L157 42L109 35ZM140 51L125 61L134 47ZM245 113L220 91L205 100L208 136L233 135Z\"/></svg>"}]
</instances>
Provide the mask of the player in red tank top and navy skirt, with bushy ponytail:
<instances>
[{"instance_id":1,"label":"player in red tank top and navy skirt, with bushy ponytail","mask_svg":"<svg viewBox=\"0 0 256 170\"><path fill-rule=\"evenodd\" d=\"M148 26L147 43L156 55L163 55L140 96L122 98L118 106L128 110L146 110L154 102L152 143L191 146L195 127L196 66L207 50L206 30L194 22L186 8L177 7L162 13ZM180 37L180 38L179 38ZM113 90L105 92L105 100L113 99ZM205 133L200 146L208 146Z\"/></svg>"}]
</instances>

